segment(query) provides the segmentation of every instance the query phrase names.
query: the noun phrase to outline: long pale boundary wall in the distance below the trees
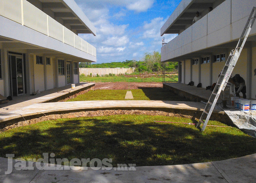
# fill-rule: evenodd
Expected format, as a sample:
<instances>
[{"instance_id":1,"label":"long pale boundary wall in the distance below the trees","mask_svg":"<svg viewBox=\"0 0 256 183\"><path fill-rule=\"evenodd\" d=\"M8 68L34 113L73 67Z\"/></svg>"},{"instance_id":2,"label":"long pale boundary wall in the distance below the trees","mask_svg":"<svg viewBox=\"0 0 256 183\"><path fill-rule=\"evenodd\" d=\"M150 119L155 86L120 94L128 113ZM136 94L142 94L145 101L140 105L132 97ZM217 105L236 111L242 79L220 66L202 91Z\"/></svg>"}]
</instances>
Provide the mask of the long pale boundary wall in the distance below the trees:
<instances>
[{"instance_id":1,"label":"long pale boundary wall in the distance below the trees","mask_svg":"<svg viewBox=\"0 0 256 183\"><path fill-rule=\"evenodd\" d=\"M79 73L84 75L90 75L92 73L92 76L96 76L99 74L99 76L105 76L106 74L132 74L134 73L135 68L79 68Z\"/></svg>"}]
</instances>

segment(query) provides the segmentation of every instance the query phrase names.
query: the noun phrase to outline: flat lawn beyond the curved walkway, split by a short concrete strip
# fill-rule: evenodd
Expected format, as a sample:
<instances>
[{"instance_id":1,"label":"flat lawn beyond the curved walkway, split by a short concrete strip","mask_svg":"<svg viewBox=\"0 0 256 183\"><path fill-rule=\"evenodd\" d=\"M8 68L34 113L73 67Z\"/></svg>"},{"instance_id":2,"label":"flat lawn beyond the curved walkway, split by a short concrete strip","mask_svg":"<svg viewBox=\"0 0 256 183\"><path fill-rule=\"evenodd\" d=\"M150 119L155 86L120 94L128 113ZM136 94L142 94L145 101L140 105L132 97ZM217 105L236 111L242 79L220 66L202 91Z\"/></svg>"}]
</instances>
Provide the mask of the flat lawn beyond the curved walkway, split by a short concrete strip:
<instances>
[{"instance_id":1,"label":"flat lawn beyond the curved walkway, split by a short concrete strip","mask_svg":"<svg viewBox=\"0 0 256 183\"><path fill-rule=\"evenodd\" d=\"M125 100L125 94L128 90L94 90L88 91L85 94L79 95L76 98L68 101L98 101L98 100ZM160 101L187 101L186 98L178 96L171 91L163 88L143 88L132 89L132 100L160 100ZM129 99L131 100L131 99Z\"/></svg>"}]
</instances>

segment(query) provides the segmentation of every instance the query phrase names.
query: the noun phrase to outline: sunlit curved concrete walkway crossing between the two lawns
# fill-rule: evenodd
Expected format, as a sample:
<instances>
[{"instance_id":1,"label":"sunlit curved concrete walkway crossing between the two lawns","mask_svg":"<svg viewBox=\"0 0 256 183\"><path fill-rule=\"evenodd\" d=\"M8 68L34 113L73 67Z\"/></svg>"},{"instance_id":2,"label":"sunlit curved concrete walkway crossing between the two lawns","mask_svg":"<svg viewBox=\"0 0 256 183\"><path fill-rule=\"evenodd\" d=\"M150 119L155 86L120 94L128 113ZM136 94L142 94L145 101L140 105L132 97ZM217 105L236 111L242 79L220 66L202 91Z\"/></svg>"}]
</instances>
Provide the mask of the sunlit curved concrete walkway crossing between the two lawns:
<instances>
[{"instance_id":1,"label":"sunlit curved concrete walkway crossing between the two lawns","mask_svg":"<svg viewBox=\"0 0 256 183\"><path fill-rule=\"evenodd\" d=\"M113 108L167 108L176 110L203 111L205 104L185 101L75 101L75 102L53 102L35 103L28 106L13 108L9 110L0 109L0 122L11 119L32 116L35 114L47 114L49 112L75 112L78 110L91 109L113 109ZM177 111L178 112L178 111ZM214 113L224 114L223 111L214 110ZM25 118L26 119L26 118Z\"/></svg>"}]
</instances>

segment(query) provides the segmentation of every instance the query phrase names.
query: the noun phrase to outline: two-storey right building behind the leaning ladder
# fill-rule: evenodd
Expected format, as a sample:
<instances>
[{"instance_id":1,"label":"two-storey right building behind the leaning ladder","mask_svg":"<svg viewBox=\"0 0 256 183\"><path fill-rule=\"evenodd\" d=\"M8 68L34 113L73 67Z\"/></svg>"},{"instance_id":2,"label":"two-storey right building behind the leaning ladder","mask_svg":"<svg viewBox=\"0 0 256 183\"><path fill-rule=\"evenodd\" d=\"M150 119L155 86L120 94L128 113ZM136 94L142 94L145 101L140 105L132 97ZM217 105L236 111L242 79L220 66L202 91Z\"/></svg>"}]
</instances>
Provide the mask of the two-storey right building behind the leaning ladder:
<instances>
[{"instance_id":1,"label":"two-storey right building behind the leaning ladder","mask_svg":"<svg viewBox=\"0 0 256 183\"><path fill-rule=\"evenodd\" d=\"M182 0L161 28L161 36L178 34L162 47L162 62L179 62L179 82L217 82L254 6L256 0ZM196 11L202 18L192 25ZM255 69L256 23L233 71L246 81L247 98L256 98Z\"/></svg>"}]
</instances>

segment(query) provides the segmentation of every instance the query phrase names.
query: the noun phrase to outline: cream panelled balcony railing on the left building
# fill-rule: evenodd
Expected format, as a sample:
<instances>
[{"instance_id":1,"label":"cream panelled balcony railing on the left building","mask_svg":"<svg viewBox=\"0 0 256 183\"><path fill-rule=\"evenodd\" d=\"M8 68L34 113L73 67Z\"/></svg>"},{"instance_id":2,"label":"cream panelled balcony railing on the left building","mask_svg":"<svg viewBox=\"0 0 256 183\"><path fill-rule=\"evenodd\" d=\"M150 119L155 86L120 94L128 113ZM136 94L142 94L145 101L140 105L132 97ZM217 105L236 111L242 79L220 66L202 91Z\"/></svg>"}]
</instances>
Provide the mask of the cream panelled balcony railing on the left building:
<instances>
[{"instance_id":1,"label":"cream panelled balcony railing on the left building","mask_svg":"<svg viewBox=\"0 0 256 183\"><path fill-rule=\"evenodd\" d=\"M96 48L26 0L0 1L0 15L96 57Z\"/></svg>"}]
</instances>

